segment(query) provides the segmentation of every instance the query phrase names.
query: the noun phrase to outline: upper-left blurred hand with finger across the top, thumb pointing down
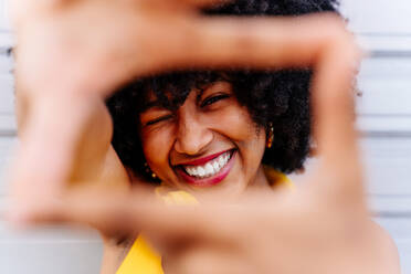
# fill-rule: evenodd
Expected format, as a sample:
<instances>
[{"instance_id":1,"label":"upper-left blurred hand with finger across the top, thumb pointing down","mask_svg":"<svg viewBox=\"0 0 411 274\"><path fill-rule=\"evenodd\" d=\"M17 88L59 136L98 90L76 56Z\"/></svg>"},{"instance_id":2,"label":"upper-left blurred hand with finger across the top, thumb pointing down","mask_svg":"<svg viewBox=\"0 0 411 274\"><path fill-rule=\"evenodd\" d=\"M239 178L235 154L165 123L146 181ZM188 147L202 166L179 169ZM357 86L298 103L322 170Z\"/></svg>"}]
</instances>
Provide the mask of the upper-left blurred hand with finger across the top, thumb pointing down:
<instances>
[{"instance_id":1,"label":"upper-left blurred hand with finger across the top, thumb pointing down","mask_svg":"<svg viewBox=\"0 0 411 274\"><path fill-rule=\"evenodd\" d=\"M57 194L70 180L98 179L74 169L85 162L95 170L89 173L98 173L112 137L103 99L130 78L188 66L317 63L319 70L328 66L319 61L330 45L349 52L340 60L355 54L338 18L199 14L198 8L217 2L222 1L12 1L21 140L10 172L13 200L30 209L29 201Z\"/></svg>"}]
</instances>

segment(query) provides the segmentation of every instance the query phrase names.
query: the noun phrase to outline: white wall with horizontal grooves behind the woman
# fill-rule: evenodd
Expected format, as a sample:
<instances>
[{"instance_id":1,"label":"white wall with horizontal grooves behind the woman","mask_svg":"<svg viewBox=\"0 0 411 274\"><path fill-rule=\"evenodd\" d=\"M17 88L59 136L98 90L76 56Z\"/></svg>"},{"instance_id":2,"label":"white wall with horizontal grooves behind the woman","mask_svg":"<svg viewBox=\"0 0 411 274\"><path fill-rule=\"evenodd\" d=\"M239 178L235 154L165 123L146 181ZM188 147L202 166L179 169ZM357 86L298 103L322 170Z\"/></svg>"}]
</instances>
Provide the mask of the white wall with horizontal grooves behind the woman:
<instances>
[{"instance_id":1,"label":"white wall with horizontal grooves behind the woman","mask_svg":"<svg viewBox=\"0 0 411 274\"><path fill-rule=\"evenodd\" d=\"M12 143L13 117L10 44L4 0L0 1L0 168ZM363 133L369 197L376 220L397 242L404 273L411 273L411 2L342 0L350 28L370 51L362 64L358 125ZM0 180L0 209L6 186ZM96 273L101 242L88 232L38 230L17 233L0 221L0 273Z\"/></svg>"}]
</instances>

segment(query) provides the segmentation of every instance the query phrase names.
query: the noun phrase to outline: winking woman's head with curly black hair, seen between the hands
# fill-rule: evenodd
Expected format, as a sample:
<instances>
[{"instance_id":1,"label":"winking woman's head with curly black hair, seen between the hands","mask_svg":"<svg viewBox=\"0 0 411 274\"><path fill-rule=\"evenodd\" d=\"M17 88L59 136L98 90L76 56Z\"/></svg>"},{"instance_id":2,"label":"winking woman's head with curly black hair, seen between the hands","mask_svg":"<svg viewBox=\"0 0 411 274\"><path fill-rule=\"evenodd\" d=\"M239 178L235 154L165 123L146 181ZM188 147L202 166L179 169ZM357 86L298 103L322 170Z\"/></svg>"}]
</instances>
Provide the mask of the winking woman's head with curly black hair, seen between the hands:
<instances>
[{"instance_id":1,"label":"winking woman's head with curly black hair, seen between the hands","mask_svg":"<svg viewBox=\"0 0 411 274\"><path fill-rule=\"evenodd\" d=\"M204 13L337 13L335 6L335 1L234 1ZM250 188L271 191L287 186L278 171L302 169L309 150L309 78L308 70L249 70L176 72L139 80L107 102L113 147L130 178L161 183L168 191L217 192L229 199ZM173 199L182 198L173 193ZM128 266L133 257L141 255L128 256L123 268L136 267Z\"/></svg>"}]
</instances>

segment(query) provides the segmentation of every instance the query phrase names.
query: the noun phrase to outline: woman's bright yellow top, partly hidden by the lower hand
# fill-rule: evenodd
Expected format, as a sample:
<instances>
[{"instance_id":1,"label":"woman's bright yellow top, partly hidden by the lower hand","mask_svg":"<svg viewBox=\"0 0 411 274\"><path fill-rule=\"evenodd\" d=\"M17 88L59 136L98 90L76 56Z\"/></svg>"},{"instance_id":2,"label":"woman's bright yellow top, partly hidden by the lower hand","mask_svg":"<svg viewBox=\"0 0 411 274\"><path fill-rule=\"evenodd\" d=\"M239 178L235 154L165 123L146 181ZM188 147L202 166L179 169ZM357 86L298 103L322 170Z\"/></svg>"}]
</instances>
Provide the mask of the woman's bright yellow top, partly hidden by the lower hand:
<instances>
[{"instance_id":1,"label":"woman's bright yellow top, partly hidden by the lower hand","mask_svg":"<svg viewBox=\"0 0 411 274\"><path fill-rule=\"evenodd\" d=\"M264 172L273 188L278 186L293 188L293 183L285 175L266 167ZM160 188L156 192L161 196ZM161 198L166 203L197 203L196 198L186 191L171 191ZM139 235L116 274L164 274L161 256Z\"/></svg>"}]
</instances>

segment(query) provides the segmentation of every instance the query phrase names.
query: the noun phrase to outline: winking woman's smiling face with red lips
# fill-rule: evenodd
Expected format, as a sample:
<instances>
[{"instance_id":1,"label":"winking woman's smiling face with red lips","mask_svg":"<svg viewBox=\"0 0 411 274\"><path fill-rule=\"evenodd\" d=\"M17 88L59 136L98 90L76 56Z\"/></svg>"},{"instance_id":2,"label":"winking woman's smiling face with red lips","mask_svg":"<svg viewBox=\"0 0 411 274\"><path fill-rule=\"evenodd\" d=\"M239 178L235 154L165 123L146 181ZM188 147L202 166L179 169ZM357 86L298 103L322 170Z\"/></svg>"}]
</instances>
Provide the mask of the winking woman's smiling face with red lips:
<instances>
[{"instance_id":1,"label":"winking woman's smiling face with red lips","mask_svg":"<svg viewBox=\"0 0 411 274\"><path fill-rule=\"evenodd\" d=\"M148 99L140 114L143 149L150 169L168 186L201 192L240 194L267 186L261 160L264 128L256 128L228 82L192 89L170 110Z\"/></svg>"}]
</instances>

